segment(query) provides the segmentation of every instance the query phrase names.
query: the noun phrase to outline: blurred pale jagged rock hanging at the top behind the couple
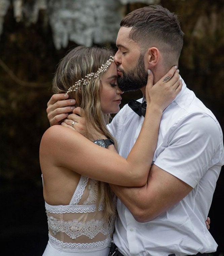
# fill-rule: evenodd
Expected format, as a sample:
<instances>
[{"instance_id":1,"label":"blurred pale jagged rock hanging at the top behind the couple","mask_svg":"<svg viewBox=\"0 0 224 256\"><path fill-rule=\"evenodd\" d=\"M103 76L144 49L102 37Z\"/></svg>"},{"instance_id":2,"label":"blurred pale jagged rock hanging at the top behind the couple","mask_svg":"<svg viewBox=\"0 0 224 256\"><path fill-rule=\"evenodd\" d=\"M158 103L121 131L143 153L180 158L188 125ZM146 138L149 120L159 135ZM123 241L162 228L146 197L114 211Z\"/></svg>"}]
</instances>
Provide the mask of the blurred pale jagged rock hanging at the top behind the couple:
<instances>
[{"instance_id":1,"label":"blurred pale jagged rock hanging at the top behind the couple","mask_svg":"<svg viewBox=\"0 0 224 256\"><path fill-rule=\"evenodd\" d=\"M160 0L0 0L0 36L4 16L13 5L17 22L36 23L40 10L46 10L56 49L69 41L90 46L116 41L123 7L127 3L159 3Z\"/></svg>"}]
</instances>

